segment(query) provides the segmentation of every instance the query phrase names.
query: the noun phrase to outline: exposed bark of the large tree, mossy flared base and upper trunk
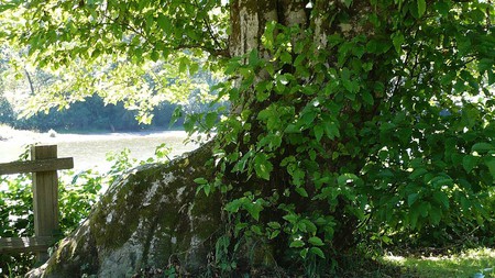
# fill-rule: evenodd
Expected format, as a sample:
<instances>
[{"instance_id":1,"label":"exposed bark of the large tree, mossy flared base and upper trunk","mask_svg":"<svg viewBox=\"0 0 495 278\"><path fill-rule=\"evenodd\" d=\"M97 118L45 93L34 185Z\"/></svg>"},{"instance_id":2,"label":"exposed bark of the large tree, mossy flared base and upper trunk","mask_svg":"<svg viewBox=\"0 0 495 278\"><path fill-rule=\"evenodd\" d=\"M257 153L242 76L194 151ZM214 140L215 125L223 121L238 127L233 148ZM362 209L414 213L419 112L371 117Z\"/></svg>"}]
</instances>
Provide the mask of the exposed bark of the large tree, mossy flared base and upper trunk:
<instances>
[{"instance_id":1,"label":"exposed bark of the large tree, mossy flared base and upper trunk","mask_svg":"<svg viewBox=\"0 0 495 278\"><path fill-rule=\"evenodd\" d=\"M333 24L328 22L329 11L339 12L337 5L340 3L332 5L317 0L314 5L322 12L314 12L311 16L307 3L287 0L231 1L230 55L240 56L257 49L261 58L270 58L261 43L270 21L286 26L311 26L315 31L312 40L321 47L326 47L329 32L353 35L348 25L358 22L361 14L353 14L356 20L351 18L344 30L338 20ZM365 12L363 9L362 13ZM257 73L258 80L254 81L263 80L265 75L263 70ZM237 103L240 107L233 108L234 113L251 103L251 92L243 91L241 98ZM366 116L363 114L363 118ZM334 145L329 146L329 152ZM196 194L197 185L194 182L195 178L213 175L213 166L205 166L211 157L211 148L212 144L207 144L168 165L151 165L123 176L105 194L89 219L59 244L47 264L31 271L29 277L76 277L85 274L124 277L148 266L163 269L174 264L186 273L205 269L209 253L215 251L216 232L224 224L219 196ZM276 182L271 180L267 184L276 187ZM348 230L342 233L337 231L336 236L339 234L350 235Z\"/></svg>"}]
</instances>

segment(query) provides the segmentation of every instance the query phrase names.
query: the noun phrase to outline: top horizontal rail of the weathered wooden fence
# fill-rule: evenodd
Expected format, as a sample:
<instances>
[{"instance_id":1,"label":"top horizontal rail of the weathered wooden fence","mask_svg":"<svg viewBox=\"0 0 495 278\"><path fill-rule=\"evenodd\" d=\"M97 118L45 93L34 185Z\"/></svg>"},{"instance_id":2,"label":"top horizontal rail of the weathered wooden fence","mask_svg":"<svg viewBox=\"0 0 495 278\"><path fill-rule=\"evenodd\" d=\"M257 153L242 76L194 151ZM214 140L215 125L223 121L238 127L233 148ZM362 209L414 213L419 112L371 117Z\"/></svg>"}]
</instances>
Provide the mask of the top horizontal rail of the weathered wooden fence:
<instances>
[{"instance_id":1,"label":"top horizontal rail of the weathered wooden fence","mask_svg":"<svg viewBox=\"0 0 495 278\"><path fill-rule=\"evenodd\" d=\"M74 168L74 158L48 158L0 164L0 175L38 173Z\"/></svg>"}]
</instances>

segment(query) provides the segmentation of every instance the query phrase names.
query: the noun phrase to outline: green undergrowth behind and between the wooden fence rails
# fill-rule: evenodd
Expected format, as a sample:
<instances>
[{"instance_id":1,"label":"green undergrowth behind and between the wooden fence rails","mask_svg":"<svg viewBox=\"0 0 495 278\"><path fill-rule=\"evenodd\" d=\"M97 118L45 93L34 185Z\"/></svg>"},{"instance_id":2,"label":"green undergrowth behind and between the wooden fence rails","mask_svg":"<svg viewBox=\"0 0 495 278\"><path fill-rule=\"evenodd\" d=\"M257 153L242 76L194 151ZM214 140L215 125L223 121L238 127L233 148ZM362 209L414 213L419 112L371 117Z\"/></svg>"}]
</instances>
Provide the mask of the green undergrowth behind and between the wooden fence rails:
<instances>
[{"instance_id":1,"label":"green undergrowth behind and between the wooden fence rails","mask_svg":"<svg viewBox=\"0 0 495 278\"><path fill-rule=\"evenodd\" d=\"M74 175L65 174L65 175ZM59 238L70 233L84 220L97 201L102 177L91 170L80 173L73 182L61 182ZM84 181L84 182L82 182ZM33 196L31 175L0 177L0 236L34 235ZM24 275L35 265L33 254L1 254L0 274L7 277Z\"/></svg>"}]
</instances>

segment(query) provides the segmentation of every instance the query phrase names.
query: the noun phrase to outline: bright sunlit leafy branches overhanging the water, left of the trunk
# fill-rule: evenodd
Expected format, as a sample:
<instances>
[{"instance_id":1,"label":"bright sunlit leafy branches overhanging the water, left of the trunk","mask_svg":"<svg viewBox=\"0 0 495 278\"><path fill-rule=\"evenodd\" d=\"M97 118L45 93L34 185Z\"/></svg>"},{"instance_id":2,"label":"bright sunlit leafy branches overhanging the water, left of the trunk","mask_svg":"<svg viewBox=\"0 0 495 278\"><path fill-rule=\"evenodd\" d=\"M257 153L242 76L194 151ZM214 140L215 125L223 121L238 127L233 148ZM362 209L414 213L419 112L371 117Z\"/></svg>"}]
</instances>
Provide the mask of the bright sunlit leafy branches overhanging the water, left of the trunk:
<instances>
[{"instance_id":1,"label":"bright sunlit leafy branches overhanging the water, left of the trunk","mask_svg":"<svg viewBox=\"0 0 495 278\"><path fill-rule=\"evenodd\" d=\"M195 91L208 100L205 73L222 78L208 56L224 52L224 7L168 2L2 4L0 40L11 71L19 78L41 68L56 77L32 93L26 114L67 109L98 93L107 103L124 101L140 111L139 120L150 122L150 112L163 101L187 103Z\"/></svg>"}]
</instances>

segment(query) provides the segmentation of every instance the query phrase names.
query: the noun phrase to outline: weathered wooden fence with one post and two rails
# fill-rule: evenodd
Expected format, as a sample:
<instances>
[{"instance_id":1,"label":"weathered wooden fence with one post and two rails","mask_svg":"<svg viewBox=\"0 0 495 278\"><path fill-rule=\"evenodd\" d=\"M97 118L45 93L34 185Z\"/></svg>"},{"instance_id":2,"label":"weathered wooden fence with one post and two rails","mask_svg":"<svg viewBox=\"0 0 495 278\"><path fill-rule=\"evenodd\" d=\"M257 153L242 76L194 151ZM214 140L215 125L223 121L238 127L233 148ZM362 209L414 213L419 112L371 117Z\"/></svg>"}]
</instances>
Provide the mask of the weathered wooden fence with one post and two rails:
<instances>
[{"instance_id":1,"label":"weathered wooden fence with one post and two rails","mask_svg":"<svg viewBox=\"0 0 495 278\"><path fill-rule=\"evenodd\" d=\"M0 175L33 173L34 237L2 237L1 253L35 252L40 262L48 258L47 248L55 243L58 230L59 169L74 167L72 157L57 158L56 145L31 147L31 160L0 164Z\"/></svg>"}]
</instances>

